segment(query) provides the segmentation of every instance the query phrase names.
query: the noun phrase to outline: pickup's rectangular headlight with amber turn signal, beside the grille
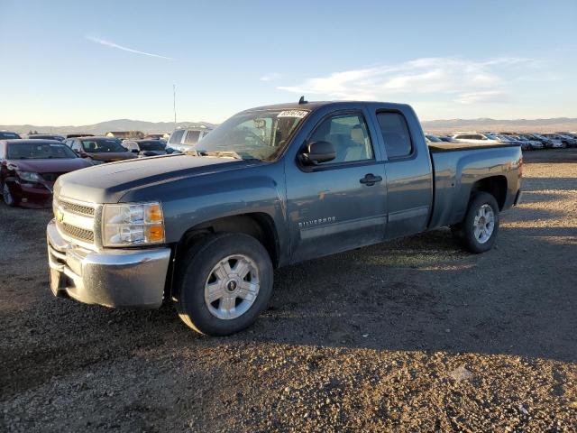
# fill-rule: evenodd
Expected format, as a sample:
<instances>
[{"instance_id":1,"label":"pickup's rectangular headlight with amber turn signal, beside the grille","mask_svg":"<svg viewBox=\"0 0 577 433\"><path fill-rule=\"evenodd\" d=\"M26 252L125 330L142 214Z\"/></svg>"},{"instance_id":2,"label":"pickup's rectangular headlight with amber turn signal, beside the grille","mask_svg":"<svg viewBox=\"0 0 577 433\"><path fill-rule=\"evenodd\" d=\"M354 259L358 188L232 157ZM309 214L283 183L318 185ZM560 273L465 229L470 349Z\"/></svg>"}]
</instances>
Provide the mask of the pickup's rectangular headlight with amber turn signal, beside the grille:
<instances>
[{"instance_id":1,"label":"pickup's rectangular headlight with amber turn signal, beside the grille","mask_svg":"<svg viewBox=\"0 0 577 433\"><path fill-rule=\"evenodd\" d=\"M132 246L162 244L164 217L160 203L125 203L104 205L102 244Z\"/></svg>"}]
</instances>

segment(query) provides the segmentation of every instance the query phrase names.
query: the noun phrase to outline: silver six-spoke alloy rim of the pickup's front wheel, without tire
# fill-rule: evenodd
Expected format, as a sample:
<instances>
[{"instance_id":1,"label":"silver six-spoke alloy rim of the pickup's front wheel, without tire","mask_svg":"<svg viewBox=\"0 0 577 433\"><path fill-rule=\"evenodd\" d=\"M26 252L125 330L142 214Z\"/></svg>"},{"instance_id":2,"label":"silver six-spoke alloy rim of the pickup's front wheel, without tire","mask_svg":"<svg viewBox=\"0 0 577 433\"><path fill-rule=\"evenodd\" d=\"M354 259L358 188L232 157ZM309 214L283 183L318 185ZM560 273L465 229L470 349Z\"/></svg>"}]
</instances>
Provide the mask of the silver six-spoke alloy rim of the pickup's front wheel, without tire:
<instances>
[{"instance_id":1,"label":"silver six-spoke alloy rim of the pickup's front wheel, without tire","mask_svg":"<svg viewBox=\"0 0 577 433\"><path fill-rule=\"evenodd\" d=\"M256 264L246 255L229 255L208 274L206 308L215 318L238 318L251 308L260 287Z\"/></svg>"}]
</instances>

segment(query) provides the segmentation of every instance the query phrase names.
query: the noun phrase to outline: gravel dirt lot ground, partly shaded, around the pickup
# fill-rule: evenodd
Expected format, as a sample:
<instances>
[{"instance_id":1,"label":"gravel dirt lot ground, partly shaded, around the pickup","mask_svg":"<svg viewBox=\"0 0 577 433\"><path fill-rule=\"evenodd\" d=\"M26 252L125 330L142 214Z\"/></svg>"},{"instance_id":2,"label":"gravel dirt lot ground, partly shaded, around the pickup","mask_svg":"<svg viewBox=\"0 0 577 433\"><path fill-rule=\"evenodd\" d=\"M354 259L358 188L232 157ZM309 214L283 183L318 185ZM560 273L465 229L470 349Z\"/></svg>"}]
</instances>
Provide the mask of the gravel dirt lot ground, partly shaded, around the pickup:
<instances>
[{"instance_id":1,"label":"gravel dirt lot ground, partly shaded, around the pickup","mask_svg":"<svg viewBox=\"0 0 577 433\"><path fill-rule=\"evenodd\" d=\"M2 431L577 431L577 150L527 152L498 246L438 230L279 270L240 335L50 295L0 205Z\"/></svg>"}]
</instances>

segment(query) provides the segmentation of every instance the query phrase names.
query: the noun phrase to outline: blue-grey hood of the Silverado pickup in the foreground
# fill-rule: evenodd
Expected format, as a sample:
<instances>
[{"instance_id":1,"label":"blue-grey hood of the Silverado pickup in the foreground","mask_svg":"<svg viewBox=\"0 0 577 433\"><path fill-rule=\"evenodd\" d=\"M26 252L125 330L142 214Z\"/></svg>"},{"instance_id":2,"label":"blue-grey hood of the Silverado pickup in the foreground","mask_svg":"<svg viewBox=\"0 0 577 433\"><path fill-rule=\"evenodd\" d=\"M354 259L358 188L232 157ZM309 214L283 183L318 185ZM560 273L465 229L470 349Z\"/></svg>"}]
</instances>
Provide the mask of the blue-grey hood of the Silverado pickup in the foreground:
<instances>
[{"instance_id":1,"label":"blue-grey hood of the Silverado pickup in the foreground","mask_svg":"<svg viewBox=\"0 0 577 433\"><path fill-rule=\"evenodd\" d=\"M97 165L60 176L54 185L54 193L91 203L117 203L133 189L259 163L186 154L139 158Z\"/></svg>"}]
</instances>

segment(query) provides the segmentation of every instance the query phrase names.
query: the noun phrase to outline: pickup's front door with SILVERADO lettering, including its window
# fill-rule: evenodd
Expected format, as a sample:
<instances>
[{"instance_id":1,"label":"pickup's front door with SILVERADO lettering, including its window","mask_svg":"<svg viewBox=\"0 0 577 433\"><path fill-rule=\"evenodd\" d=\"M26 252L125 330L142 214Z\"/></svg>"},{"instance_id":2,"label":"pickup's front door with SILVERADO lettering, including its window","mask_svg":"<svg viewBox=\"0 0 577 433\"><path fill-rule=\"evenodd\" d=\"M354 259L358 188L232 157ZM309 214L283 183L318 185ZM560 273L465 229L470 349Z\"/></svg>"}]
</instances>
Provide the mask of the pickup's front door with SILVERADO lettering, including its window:
<instances>
[{"instance_id":1,"label":"pickup's front door with SILVERADO lettering, including its window","mask_svg":"<svg viewBox=\"0 0 577 433\"><path fill-rule=\"evenodd\" d=\"M311 127L303 144L333 143L334 161L316 166L303 166L298 158L286 161L292 263L383 240L385 172L366 117L360 105L331 111Z\"/></svg>"}]
</instances>

